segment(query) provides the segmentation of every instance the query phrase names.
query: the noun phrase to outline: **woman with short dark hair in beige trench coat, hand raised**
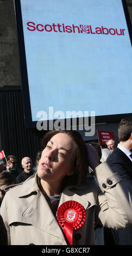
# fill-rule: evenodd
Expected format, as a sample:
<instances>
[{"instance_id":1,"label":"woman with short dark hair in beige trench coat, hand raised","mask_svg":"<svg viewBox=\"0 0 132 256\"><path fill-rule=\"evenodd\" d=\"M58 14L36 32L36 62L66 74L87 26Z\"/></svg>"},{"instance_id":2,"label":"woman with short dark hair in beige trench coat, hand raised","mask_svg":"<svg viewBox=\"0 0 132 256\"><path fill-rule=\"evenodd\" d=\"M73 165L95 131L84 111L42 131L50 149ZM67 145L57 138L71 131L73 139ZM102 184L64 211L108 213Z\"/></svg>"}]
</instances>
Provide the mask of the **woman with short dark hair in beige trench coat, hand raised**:
<instances>
[{"instance_id":1,"label":"woman with short dark hair in beige trench coat, hand raised","mask_svg":"<svg viewBox=\"0 0 132 256\"><path fill-rule=\"evenodd\" d=\"M129 181L99 164L97 150L77 131L47 132L43 145L37 173L3 199L9 244L93 245L95 223L115 229L132 225Z\"/></svg>"}]
</instances>

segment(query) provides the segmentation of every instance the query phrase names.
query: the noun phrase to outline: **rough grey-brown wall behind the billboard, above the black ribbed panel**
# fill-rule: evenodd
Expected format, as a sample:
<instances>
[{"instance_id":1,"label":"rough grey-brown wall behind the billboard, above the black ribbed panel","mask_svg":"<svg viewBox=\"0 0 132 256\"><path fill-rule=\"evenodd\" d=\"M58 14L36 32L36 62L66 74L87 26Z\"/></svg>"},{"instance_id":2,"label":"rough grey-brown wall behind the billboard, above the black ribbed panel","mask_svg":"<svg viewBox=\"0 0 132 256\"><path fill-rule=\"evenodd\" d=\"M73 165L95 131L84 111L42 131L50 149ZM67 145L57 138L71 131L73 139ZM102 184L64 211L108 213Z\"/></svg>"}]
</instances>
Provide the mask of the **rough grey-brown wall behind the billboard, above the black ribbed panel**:
<instances>
[{"instance_id":1,"label":"rough grey-brown wall behind the billboard, above the black ribbed panel","mask_svg":"<svg viewBox=\"0 0 132 256\"><path fill-rule=\"evenodd\" d=\"M132 0L126 1L132 23ZM0 57L0 87L21 86L13 0L0 0Z\"/></svg>"}]
</instances>

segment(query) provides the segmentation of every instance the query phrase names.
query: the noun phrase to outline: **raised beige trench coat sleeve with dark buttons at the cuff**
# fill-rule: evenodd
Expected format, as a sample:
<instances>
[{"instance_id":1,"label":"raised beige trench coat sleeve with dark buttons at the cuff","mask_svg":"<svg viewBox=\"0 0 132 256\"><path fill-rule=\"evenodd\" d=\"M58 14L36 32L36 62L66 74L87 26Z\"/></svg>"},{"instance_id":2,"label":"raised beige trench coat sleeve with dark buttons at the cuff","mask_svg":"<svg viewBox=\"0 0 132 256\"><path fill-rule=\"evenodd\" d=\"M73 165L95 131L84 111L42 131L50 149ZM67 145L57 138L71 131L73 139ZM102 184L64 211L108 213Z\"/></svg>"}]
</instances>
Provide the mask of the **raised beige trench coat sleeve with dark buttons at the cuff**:
<instances>
[{"instance_id":1,"label":"raised beige trench coat sleeve with dark buttons at the cuff","mask_svg":"<svg viewBox=\"0 0 132 256\"><path fill-rule=\"evenodd\" d=\"M97 199L96 222L104 227L124 229L132 225L132 181L123 179L110 169L108 163L99 164L95 176L100 187Z\"/></svg>"}]
</instances>

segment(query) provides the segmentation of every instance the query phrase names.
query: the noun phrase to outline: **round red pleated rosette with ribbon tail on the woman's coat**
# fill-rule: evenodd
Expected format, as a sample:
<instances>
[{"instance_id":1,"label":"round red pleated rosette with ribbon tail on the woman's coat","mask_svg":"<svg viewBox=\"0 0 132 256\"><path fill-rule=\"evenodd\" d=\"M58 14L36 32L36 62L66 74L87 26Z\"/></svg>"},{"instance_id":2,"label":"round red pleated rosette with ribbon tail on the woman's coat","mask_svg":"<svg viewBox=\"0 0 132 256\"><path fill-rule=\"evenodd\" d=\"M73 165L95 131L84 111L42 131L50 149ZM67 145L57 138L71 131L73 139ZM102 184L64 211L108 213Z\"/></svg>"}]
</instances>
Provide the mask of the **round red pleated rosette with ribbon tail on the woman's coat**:
<instances>
[{"instance_id":1,"label":"round red pleated rosette with ribbon tail on the woman's coat","mask_svg":"<svg viewBox=\"0 0 132 256\"><path fill-rule=\"evenodd\" d=\"M81 228L86 219L83 205L72 200L66 201L60 205L56 216L68 242L72 245L73 230Z\"/></svg>"}]
</instances>

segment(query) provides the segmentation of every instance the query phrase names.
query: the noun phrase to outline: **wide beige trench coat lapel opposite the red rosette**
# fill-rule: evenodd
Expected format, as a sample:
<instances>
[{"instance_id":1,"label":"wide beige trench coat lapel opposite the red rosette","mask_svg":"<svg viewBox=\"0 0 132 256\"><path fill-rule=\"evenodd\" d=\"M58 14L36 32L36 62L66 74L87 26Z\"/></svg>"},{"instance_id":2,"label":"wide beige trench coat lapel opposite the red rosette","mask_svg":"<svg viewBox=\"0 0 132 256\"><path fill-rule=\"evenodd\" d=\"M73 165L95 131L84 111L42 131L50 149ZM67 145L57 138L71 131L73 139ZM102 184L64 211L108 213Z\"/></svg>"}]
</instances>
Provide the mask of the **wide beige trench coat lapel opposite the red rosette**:
<instances>
[{"instance_id":1,"label":"wide beige trench coat lapel opposite the red rosette","mask_svg":"<svg viewBox=\"0 0 132 256\"><path fill-rule=\"evenodd\" d=\"M28 195L30 196L27 197ZM35 178L32 176L32 178L29 178L28 182L24 182L22 185L19 194L20 204L21 198L23 197L25 197L24 202L26 202L26 200L27 202L22 210L21 221L30 223L31 225L34 225L34 227L46 231L49 234L53 234L56 237L60 237L65 241L61 228L52 214L47 200L37 185L37 175L35 175Z\"/></svg>"}]
</instances>

